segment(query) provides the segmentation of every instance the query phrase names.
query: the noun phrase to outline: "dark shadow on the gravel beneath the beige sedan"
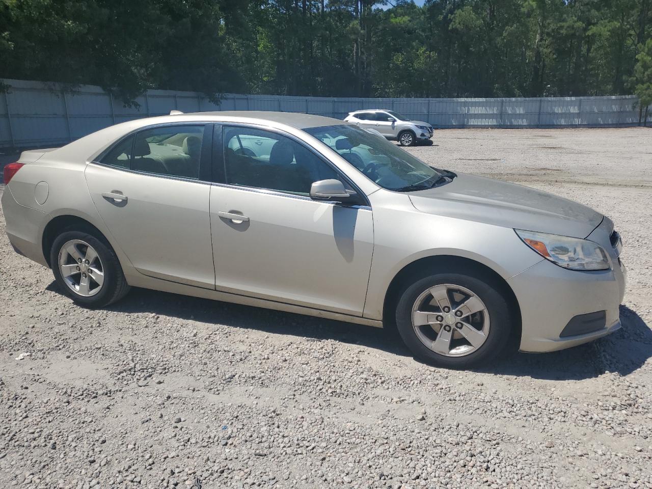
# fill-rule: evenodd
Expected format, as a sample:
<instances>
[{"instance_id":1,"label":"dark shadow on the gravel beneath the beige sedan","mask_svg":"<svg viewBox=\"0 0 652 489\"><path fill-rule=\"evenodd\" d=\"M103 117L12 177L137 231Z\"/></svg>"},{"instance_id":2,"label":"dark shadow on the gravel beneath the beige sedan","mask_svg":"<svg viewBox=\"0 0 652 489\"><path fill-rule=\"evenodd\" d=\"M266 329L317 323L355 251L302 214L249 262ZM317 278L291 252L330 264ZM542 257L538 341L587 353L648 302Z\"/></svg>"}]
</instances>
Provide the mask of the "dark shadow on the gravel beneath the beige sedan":
<instances>
[{"instance_id":1,"label":"dark shadow on the gravel beneath the beige sedan","mask_svg":"<svg viewBox=\"0 0 652 489\"><path fill-rule=\"evenodd\" d=\"M55 282L50 284L48 290L60 293ZM256 329L269 334L336 340L394 355L411 356L393 327L377 329L147 289L132 289L125 299L111 304L108 310L125 314L149 312L171 318ZM652 357L652 331L636 312L626 306L620 307L620 317L623 327L595 342L552 353L514 353L494 362L492 366L473 370L478 373L547 380L582 380L595 378L605 372L617 372L625 376Z\"/></svg>"}]
</instances>

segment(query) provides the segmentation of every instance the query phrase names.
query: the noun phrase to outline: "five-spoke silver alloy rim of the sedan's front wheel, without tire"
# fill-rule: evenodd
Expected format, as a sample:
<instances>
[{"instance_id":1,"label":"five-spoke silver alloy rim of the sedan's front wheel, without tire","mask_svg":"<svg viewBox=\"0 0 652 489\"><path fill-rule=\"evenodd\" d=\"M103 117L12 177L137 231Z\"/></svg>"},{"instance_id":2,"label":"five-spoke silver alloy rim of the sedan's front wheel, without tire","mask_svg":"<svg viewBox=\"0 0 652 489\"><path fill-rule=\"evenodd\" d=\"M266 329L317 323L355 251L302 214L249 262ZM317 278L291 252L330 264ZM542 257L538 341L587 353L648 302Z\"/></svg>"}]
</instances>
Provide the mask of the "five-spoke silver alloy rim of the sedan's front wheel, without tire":
<instances>
[{"instance_id":1,"label":"five-spoke silver alloy rim of the sedan's front wheel, without tire","mask_svg":"<svg viewBox=\"0 0 652 489\"><path fill-rule=\"evenodd\" d=\"M454 284L426 289L412 306L412 327L417 338L445 357L464 357L486 341L489 313L473 291Z\"/></svg>"}]
</instances>

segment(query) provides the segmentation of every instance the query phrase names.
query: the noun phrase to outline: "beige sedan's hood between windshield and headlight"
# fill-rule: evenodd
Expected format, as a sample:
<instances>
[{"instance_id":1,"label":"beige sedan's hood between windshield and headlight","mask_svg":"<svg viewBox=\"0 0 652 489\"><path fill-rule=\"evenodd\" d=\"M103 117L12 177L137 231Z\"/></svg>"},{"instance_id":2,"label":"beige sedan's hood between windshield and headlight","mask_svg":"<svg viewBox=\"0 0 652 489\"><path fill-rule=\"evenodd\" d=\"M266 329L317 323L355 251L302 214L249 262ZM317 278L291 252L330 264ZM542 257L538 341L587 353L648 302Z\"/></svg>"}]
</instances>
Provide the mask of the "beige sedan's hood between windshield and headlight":
<instances>
[{"instance_id":1,"label":"beige sedan's hood between windshield and headlight","mask_svg":"<svg viewBox=\"0 0 652 489\"><path fill-rule=\"evenodd\" d=\"M464 173L446 185L408 195L424 213L578 238L591 234L603 217L548 192Z\"/></svg>"}]
</instances>

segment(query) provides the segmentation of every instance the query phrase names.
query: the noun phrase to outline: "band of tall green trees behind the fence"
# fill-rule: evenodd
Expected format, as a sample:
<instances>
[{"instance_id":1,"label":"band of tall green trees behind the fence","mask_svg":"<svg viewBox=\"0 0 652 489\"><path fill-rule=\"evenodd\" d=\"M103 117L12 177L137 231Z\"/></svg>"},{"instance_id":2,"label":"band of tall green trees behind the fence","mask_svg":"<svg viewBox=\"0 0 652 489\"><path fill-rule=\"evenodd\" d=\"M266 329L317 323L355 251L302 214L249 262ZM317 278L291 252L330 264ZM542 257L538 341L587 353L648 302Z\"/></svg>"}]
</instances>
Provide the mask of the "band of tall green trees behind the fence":
<instances>
[{"instance_id":1,"label":"band of tall green trees behind the fence","mask_svg":"<svg viewBox=\"0 0 652 489\"><path fill-rule=\"evenodd\" d=\"M147 88L643 98L651 24L652 0L0 0L0 78L127 104Z\"/></svg>"}]
</instances>

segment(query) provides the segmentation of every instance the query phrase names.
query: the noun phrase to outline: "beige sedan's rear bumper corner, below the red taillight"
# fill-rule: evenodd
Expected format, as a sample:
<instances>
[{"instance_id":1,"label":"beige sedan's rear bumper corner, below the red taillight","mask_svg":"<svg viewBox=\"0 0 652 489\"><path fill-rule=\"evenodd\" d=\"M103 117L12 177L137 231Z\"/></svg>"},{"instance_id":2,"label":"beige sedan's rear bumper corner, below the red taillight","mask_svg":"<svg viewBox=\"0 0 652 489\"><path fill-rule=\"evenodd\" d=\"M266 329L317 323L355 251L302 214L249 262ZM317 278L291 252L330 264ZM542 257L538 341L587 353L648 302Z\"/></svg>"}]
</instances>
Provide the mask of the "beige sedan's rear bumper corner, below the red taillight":
<instances>
[{"instance_id":1,"label":"beige sedan's rear bumper corner, below the red taillight","mask_svg":"<svg viewBox=\"0 0 652 489\"><path fill-rule=\"evenodd\" d=\"M47 267L48 262L43 256L41 239L50 215L20 205L7 185L3 190L2 209L7 223L7 237L14 250Z\"/></svg>"}]
</instances>

